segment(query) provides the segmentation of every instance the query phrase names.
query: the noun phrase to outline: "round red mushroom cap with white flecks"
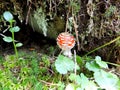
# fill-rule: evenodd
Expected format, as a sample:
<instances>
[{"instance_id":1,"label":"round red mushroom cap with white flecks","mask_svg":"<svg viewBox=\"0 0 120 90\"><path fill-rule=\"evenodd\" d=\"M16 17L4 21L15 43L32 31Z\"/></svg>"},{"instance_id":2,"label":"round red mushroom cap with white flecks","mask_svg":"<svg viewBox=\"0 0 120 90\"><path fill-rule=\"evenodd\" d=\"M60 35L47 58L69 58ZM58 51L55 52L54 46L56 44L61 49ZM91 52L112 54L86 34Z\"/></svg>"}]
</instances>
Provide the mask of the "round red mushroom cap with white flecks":
<instances>
[{"instance_id":1,"label":"round red mushroom cap with white flecks","mask_svg":"<svg viewBox=\"0 0 120 90\"><path fill-rule=\"evenodd\" d=\"M57 45L62 50L71 50L75 46L75 38L68 32L62 32L57 37Z\"/></svg>"}]
</instances>

